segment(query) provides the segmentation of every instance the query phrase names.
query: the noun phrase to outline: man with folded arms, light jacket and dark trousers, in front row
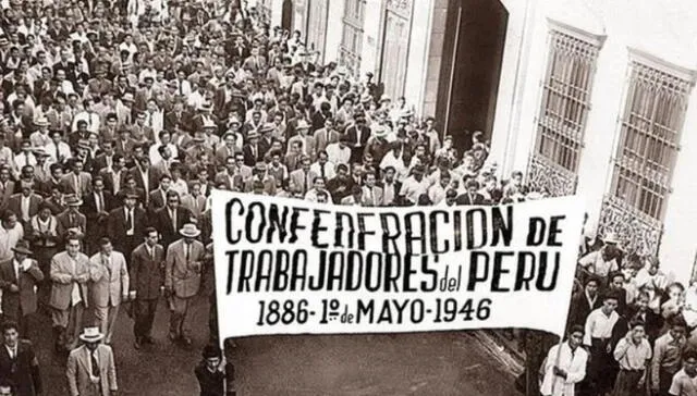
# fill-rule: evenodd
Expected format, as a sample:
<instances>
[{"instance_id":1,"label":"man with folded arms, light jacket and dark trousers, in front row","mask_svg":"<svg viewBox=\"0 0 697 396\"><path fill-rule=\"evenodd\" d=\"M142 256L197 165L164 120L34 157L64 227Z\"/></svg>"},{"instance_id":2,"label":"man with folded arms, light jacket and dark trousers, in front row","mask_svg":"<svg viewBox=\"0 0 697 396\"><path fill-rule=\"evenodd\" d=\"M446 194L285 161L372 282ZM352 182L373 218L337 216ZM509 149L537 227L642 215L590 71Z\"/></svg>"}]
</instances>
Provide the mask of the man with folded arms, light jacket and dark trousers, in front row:
<instances>
[{"instance_id":1,"label":"man with folded arms, light jacket and dark trousers, in front row","mask_svg":"<svg viewBox=\"0 0 697 396\"><path fill-rule=\"evenodd\" d=\"M80 251L81 238L71 235L65 250L51 259L51 320L58 351L74 349L87 307L87 282L89 282L89 258Z\"/></svg>"}]
</instances>

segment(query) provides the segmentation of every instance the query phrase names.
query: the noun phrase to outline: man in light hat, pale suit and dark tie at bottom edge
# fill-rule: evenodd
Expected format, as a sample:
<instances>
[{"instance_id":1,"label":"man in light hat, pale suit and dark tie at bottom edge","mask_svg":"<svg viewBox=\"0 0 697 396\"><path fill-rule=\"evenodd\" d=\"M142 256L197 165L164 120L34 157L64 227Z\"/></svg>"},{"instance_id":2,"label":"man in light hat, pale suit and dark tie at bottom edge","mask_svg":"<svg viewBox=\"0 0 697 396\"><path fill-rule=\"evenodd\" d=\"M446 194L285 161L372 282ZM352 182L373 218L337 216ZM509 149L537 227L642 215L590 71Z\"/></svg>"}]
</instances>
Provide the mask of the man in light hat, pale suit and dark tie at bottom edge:
<instances>
[{"instance_id":1,"label":"man in light hat, pale suit and dark tie at bottom edge","mask_svg":"<svg viewBox=\"0 0 697 396\"><path fill-rule=\"evenodd\" d=\"M68 385L71 396L112 396L119 392L117 366L110 346L99 327L85 327L80 335L83 345L68 357Z\"/></svg>"}]
</instances>

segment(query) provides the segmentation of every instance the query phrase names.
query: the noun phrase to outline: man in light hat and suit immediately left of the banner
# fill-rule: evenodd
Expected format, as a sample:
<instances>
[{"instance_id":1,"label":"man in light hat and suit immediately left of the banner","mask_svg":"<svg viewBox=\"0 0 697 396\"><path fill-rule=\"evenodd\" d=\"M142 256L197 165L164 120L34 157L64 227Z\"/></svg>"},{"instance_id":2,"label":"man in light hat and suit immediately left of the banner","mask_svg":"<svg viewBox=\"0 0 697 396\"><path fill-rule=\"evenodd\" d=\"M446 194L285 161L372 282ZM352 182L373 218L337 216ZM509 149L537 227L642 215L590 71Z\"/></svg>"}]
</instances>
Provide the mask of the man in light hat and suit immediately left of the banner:
<instances>
[{"instance_id":1,"label":"man in light hat and suit immediately left of the banner","mask_svg":"<svg viewBox=\"0 0 697 396\"><path fill-rule=\"evenodd\" d=\"M164 293L169 298L170 334L172 342L181 342L191 345L188 338L188 324L186 323L188 309L193 297L200 288L200 275L206 248L196 240L200 231L195 224L184 224L179 230L182 238L172 243L167 248L167 261L164 269Z\"/></svg>"}]
</instances>

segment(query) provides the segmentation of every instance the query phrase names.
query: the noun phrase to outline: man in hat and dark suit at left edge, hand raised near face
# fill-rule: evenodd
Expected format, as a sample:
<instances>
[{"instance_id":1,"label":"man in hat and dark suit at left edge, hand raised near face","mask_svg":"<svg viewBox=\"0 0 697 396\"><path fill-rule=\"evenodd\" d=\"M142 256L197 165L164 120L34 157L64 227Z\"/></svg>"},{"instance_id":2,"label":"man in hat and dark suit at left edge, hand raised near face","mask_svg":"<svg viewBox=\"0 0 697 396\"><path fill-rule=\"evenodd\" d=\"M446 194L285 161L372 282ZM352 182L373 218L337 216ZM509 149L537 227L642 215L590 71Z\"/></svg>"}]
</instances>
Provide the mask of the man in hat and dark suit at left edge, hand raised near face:
<instances>
[{"instance_id":1,"label":"man in hat and dark suit at left edge, hand raised near face","mask_svg":"<svg viewBox=\"0 0 697 396\"><path fill-rule=\"evenodd\" d=\"M20 239L12 249L14 258L0 263L2 313L5 320L19 324L22 334L28 336L32 315L36 312L36 287L44 281L44 273L36 260L29 259L29 242Z\"/></svg>"}]
</instances>

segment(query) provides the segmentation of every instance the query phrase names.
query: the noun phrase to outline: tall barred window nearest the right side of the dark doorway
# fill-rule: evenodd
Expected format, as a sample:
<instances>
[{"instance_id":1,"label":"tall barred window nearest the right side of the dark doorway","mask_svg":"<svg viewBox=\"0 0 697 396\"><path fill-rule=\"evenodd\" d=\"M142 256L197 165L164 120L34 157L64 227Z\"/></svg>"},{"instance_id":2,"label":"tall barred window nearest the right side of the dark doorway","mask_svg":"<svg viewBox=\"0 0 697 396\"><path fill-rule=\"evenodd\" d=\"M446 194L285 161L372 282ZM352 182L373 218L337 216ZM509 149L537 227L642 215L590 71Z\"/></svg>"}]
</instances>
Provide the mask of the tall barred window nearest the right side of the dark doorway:
<instances>
[{"instance_id":1,"label":"tall barred window nearest the right side of the dark doorway","mask_svg":"<svg viewBox=\"0 0 697 396\"><path fill-rule=\"evenodd\" d=\"M576 174L601 40L554 23L550 30L535 153Z\"/></svg>"}]
</instances>

